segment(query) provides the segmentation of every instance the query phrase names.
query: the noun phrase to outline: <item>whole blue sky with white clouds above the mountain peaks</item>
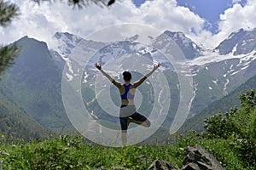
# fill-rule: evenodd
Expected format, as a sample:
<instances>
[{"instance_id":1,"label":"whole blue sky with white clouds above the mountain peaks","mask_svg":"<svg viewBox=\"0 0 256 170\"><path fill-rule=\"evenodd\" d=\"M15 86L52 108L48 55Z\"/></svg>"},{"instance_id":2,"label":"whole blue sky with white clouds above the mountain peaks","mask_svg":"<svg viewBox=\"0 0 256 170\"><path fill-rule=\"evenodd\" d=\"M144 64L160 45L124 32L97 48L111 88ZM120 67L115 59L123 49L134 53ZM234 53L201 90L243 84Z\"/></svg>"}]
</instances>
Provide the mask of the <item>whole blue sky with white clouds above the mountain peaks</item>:
<instances>
[{"instance_id":1,"label":"whole blue sky with white clouds above the mountain peaks","mask_svg":"<svg viewBox=\"0 0 256 170\"><path fill-rule=\"evenodd\" d=\"M0 44L28 36L54 46L56 31L79 37L108 26L140 24L160 31L181 31L196 44L215 48L233 31L256 27L256 0L116 0L110 7L90 5L78 9L67 1L33 3L10 0L20 7L20 16L10 26L0 27Z\"/></svg>"}]
</instances>

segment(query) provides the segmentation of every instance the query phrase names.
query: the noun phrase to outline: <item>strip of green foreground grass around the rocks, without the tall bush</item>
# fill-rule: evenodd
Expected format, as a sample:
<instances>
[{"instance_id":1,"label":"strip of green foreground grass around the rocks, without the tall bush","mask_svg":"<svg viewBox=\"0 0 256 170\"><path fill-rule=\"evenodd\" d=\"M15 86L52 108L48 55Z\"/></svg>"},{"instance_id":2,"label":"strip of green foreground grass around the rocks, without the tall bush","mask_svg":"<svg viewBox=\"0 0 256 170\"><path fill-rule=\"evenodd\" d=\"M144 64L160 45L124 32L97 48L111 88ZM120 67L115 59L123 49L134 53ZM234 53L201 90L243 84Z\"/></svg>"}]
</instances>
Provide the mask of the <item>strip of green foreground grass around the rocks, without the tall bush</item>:
<instances>
[{"instance_id":1,"label":"strip of green foreground grass around the rocks, without the tall bush","mask_svg":"<svg viewBox=\"0 0 256 170\"><path fill-rule=\"evenodd\" d=\"M182 167L184 149L188 144L201 144L226 169L253 169L245 167L229 140L200 139L195 134L178 138L175 144L132 145L111 148L85 143L81 136L58 136L53 139L20 144L0 144L3 169L148 169L156 159ZM255 168L255 167L254 167Z\"/></svg>"}]
</instances>

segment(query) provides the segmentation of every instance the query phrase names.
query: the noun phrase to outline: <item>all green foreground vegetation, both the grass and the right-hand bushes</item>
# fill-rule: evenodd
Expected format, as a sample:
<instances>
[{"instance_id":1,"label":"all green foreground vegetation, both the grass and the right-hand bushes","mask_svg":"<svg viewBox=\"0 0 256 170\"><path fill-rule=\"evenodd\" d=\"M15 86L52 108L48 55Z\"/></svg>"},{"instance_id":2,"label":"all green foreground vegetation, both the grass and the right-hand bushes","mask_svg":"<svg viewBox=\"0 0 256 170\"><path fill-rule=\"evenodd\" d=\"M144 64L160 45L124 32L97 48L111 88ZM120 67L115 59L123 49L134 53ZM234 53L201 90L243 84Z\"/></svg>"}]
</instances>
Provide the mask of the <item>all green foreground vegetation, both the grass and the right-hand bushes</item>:
<instances>
[{"instance_id":1,"label":"all green foreground vegetation, both the grass and the right-hand bushes","mask_svg":"<svg viewBox=\"0 0 256 170\"><path fill-rule=\"evenodd\" d=\"M200 144L227 170L256 169L256 91L242 94L241 108L232 108L225 116L207 118L206 132L181 136L173 144L136 144L111 148L91 144L80 135L12 142L0 136L0 169L148 169L157 159L182 167L184 150ZM151 137L152 138L152 137ZM160 137L159 137L160 138ZM119 168L121 169L121 168Z\"/></svg>"}]
</instances>

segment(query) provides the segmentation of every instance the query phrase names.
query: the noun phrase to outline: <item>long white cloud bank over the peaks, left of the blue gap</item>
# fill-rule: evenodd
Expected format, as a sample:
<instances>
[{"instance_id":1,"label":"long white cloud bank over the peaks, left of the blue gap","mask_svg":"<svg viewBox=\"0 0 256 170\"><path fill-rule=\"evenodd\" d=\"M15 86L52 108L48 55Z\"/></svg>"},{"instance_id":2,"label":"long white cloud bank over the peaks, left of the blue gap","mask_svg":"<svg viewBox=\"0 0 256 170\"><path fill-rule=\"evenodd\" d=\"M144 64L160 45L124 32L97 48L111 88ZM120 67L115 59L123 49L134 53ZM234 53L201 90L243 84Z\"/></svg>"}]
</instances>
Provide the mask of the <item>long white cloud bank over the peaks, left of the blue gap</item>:
<instances>
[{"instance_id":1,"label":"long white cloud bank over the peaks, left of the blue gap","mask_svg":"<svg viewBox=\"0 0 256 170\"><path fill-rule=\"evenodd\" d=\"M20 7L20 16L7 28L0 28L2 43L14 42L23 36L50 42L56 31L68 31L80 37L90 32L123 23L139 23L153 26L160 31L183 31L191 34L192 27L201 32L204 20L189 11L177 7L175 0L146 1L140 8L131 0L117 1L109 8L91 5L77 9L66 3L32 3L30 0L14 0Z\"/></svg>"}]
</instances>

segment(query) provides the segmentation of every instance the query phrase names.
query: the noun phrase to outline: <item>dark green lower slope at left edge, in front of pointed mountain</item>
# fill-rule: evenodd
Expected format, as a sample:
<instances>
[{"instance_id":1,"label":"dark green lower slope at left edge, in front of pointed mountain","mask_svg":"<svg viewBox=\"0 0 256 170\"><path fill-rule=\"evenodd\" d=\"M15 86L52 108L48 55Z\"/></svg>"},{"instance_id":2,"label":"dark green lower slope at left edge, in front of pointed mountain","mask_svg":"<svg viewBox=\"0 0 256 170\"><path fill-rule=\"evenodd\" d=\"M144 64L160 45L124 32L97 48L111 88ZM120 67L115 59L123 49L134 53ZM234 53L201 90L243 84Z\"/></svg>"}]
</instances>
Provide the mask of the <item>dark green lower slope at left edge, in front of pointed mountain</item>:
<instances>
[{"instance_id":1,"label":"dark green lower slope at left edge, in front of pointed mountain","mask_svg":"<svg viewBox=\"0 0 256 170\"><path fill-rule=\"evenodd\" d=\"M4 91L3 91L4 90ZM0 90L0 133L15 139L42 139L49 132L22 110L8 97L9 90Z\"/></svg>"}]
</instances>

